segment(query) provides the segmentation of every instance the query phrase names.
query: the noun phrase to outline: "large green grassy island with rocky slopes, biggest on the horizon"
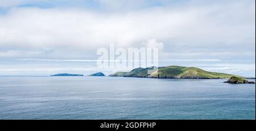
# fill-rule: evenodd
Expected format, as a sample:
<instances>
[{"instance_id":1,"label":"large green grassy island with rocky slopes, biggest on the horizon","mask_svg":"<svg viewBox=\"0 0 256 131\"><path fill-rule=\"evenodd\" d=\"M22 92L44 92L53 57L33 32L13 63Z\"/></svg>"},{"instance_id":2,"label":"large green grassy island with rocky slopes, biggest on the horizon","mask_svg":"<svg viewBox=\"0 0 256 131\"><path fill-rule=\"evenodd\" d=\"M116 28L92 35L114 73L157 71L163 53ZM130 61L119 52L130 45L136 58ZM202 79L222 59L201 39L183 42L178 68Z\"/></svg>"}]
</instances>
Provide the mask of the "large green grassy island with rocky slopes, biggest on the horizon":
<instances>
[{"instance_id":1,"label":"large green grassy island with rocky slopes, biggest on the horizon","mask_svg":"<svg viewBox=\"0 0 256 131\"><path fill-rule=\"evenodd\" d=\"M112 77L146 77L146 78L175 78L175 79L217 79L217 78L230 78L232 76L241 77L237 75L231 75L226 73L208 72L196 67L181 67L171 65L168 67L156 67L148 68L135 68L130 72L116 72ZM151 74L148 71L154 71Z\"/></svg>"}]
</instances>

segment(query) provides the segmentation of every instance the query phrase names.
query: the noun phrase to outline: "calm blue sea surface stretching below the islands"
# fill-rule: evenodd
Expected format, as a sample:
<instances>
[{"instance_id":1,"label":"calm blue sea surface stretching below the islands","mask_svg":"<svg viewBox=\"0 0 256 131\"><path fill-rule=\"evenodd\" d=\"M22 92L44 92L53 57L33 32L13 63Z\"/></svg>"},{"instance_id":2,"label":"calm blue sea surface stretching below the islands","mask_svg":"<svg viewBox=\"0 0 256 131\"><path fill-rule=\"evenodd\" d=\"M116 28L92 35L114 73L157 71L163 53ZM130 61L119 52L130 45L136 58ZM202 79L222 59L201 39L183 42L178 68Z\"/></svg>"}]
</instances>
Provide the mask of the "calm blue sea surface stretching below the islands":
<instances>
[{"instance_id":1,"label":"calm blue sea surface stretching below the islands","mask_svg":"<svg viewBox=\"0 0 256 131\"><path fill-rule=\"evenodd\" d=\"M223 81L0 77L0 119L255 119L255 85Z\"/></svg>"}]
</instances>

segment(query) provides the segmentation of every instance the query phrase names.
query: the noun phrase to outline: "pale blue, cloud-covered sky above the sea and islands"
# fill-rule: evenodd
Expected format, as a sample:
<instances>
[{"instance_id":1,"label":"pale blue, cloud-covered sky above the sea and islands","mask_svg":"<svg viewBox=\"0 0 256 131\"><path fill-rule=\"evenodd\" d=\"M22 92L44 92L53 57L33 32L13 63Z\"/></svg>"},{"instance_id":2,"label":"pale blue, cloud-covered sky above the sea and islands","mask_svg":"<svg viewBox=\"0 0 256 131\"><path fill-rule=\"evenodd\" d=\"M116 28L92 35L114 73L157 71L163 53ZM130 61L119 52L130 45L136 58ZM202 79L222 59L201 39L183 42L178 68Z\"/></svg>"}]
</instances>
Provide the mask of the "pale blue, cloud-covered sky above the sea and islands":
<instances>
[{"instance_id":1,"label":"pale blue, cloud-covered sky above the sea and islands","mask_svg":"<svg viewBox=\"0 0 256 131\"><path fill-rule=\"evenodd\" d=\"M0 76L99 69L97 49L159 47L159 66L255 77L254 0L0 0Z\"/></svg>"}]
</instances>

